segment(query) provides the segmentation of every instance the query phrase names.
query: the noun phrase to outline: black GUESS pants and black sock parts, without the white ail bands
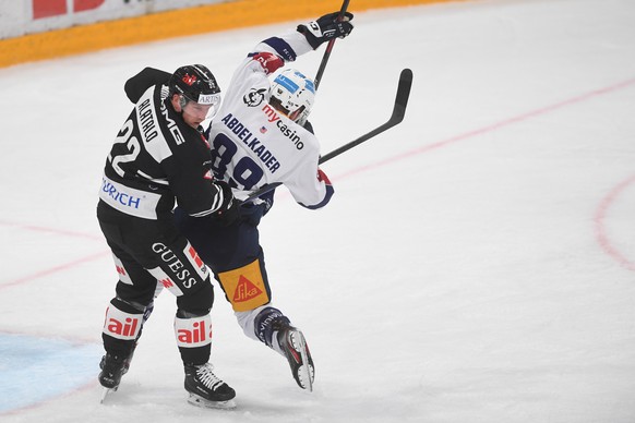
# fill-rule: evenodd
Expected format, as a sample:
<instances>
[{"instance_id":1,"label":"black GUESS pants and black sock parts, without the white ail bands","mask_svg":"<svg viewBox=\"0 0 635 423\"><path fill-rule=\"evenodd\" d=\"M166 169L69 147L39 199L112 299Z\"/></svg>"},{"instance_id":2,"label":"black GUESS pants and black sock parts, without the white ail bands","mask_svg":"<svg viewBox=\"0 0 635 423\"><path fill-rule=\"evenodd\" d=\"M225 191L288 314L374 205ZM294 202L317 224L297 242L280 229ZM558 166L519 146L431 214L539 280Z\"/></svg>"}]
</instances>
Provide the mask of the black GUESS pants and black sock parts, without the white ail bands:
<instances>
[{"instance_id":1,"label":"black GUESS pants and black sock parts, without the white ail bands","mask_svg":"<svg viewBox=\"0 0 635 423\"><path fill-rule=\"evenodd\" d=\"M204 316L214 302L209 271L189 241L178 231L171 214L157 220L130 216L99 201L97 218L115 256L119 281L112 301L129 313L143 313L154 298L157 281L177 295L179 317ZM115 302L111 302L115 304ZM120 306L121 307L121 306ZM130 340L104 334L106 351L129 351ZM205 363L211 347L181 348L184 363Z\"/></svg>"}]
</instances>

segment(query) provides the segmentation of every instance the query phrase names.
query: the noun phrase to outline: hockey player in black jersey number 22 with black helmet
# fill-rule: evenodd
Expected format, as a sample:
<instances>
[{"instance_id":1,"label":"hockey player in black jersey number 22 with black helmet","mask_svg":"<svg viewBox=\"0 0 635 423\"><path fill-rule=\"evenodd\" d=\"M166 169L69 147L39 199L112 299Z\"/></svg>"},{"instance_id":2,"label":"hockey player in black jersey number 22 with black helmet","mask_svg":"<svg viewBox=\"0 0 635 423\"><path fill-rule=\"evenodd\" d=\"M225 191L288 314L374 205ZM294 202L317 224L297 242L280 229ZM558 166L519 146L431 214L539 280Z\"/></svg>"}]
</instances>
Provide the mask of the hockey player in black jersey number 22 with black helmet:
<instances>
[{"instance_id":1,"label":"hockey player in black jersey number 22 with black helmet","mask_svg":"<svg viewBox=\"0 0 635 423\"><path fill-rule=\"evenodd\" d=\"M112 250L119 281L106 311L99 383L116 390L128 371L157 283L177 297L175 335L189 401L231 407L236 392L212 372L209 270L175 226L175 203L192 218L231 220L237 202L211 171L201 123L220 104L203 65L173 74L146 68L125 83L135 105L106 160L97 218Z\"/></svg>"}]
</instances>

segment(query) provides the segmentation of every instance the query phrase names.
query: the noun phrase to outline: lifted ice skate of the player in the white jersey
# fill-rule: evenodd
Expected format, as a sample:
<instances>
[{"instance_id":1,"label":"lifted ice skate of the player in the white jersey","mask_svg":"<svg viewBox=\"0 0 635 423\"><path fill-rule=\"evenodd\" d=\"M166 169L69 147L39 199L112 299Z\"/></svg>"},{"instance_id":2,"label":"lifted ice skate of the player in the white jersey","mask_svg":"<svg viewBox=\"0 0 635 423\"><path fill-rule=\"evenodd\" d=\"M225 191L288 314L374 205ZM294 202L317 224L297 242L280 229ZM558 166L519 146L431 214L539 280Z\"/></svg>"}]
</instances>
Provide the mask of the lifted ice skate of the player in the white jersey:
<instances>
[{"instance_id":1,"label":"lifted ice skate of the player in the white jersey","mask_svg":"<svg viewBox=\"0 0 635 423\"><path fill-rule=\"evenodd\" d=\"M313 379L315 370L313 359L307 346L304 335L297 328L287 324L277 329L278 345L285 352L285 355L291 366L291 374L298 386L302 389L313 390Z\"/></svg>"}]
</instances>

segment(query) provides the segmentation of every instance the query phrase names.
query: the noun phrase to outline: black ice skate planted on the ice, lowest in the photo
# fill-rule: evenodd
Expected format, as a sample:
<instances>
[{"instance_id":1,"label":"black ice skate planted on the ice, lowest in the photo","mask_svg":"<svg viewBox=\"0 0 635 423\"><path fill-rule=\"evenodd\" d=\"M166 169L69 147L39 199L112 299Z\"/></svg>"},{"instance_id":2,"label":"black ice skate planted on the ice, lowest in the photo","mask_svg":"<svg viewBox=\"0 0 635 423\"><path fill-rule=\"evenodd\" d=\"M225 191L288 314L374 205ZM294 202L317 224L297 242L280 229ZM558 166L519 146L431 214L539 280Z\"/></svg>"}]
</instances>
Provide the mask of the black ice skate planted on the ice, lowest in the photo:
<instances>
[{"instance_id":1,"label":"black ice skate planted on the ice, lowest in the photo","mask_svg":"<svg viewBox=\"0 0 635 423\"><path fill-rule=\"evenodd\" d=\"M209 363L185 365L185 390L190 394L188 402L197 407L231 409L236 391L218 378Z\"/></svg>"}]
</instances>

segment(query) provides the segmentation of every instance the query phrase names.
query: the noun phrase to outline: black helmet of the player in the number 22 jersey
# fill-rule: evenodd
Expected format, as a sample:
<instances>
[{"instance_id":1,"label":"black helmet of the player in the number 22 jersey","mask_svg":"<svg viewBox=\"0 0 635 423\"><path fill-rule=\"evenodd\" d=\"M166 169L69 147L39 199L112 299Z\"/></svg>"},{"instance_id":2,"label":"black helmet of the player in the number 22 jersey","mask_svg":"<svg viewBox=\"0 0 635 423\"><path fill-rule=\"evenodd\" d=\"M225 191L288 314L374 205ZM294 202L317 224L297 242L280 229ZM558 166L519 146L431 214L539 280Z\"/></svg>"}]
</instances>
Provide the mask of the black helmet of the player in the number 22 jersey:
<instances>
[{"instance_id":1,"label":"black helmet of the player in the number 22 jersey","mask_svg":"<svg viewBox=\"0 0 635 423\"><path fill-rule=\"evenodd\" d=\"M203 64L189 64L177 69L168 85L170 95L180 94L201 105L214 105L220 99L216 78Z\"/></svg>"}]
</instances>

